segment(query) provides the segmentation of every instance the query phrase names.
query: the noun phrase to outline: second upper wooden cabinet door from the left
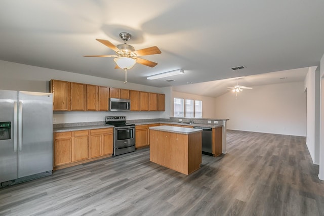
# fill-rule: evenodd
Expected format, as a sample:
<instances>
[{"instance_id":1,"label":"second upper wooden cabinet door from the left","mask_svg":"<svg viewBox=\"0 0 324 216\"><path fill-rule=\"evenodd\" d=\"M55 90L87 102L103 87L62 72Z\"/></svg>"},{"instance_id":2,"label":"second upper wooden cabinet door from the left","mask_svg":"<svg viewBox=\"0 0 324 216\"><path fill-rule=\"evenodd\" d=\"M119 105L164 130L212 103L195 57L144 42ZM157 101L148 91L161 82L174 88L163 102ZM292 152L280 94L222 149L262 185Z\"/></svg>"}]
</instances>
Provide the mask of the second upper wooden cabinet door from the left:
<instances>
[{"instance_id":1,"label":"second upper wooden cabinet door from the left","mask_svg":"<svg viewBox=\"0 0 324 216\"><path fill-rule=\"evenodd\" d=\"M71 110L85 110L86 85L71 82Z\"/></svg>"}]
</instances>

